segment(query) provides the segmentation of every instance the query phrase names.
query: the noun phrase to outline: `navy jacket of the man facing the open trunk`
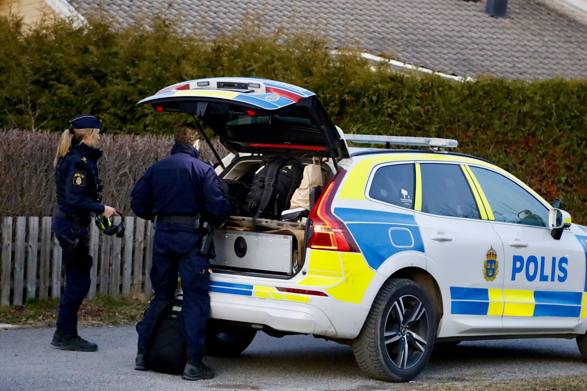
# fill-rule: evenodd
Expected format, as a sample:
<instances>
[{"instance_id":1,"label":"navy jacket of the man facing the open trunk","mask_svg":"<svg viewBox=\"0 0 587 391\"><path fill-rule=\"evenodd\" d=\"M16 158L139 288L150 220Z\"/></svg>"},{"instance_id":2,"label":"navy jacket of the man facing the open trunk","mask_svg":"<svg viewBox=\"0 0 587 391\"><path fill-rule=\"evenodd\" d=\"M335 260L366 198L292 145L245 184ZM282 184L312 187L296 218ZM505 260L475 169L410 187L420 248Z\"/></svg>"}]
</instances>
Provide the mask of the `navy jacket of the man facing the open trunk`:
<instances>
[{"instance_id":1,"label":"navy jacket of the man facing the open trunk","mask_svg":"<svg viewBox=\"0 0 587 391\"><path fill-rule=\"evenodd\" d=\"M155 215L200 213L214 225L222 224L230 216L230 203L214 168L199 156L191 145L174 145L171 156L152 165L134 185L133 212L146 220Z\"/></svg>"}]
</instances>

